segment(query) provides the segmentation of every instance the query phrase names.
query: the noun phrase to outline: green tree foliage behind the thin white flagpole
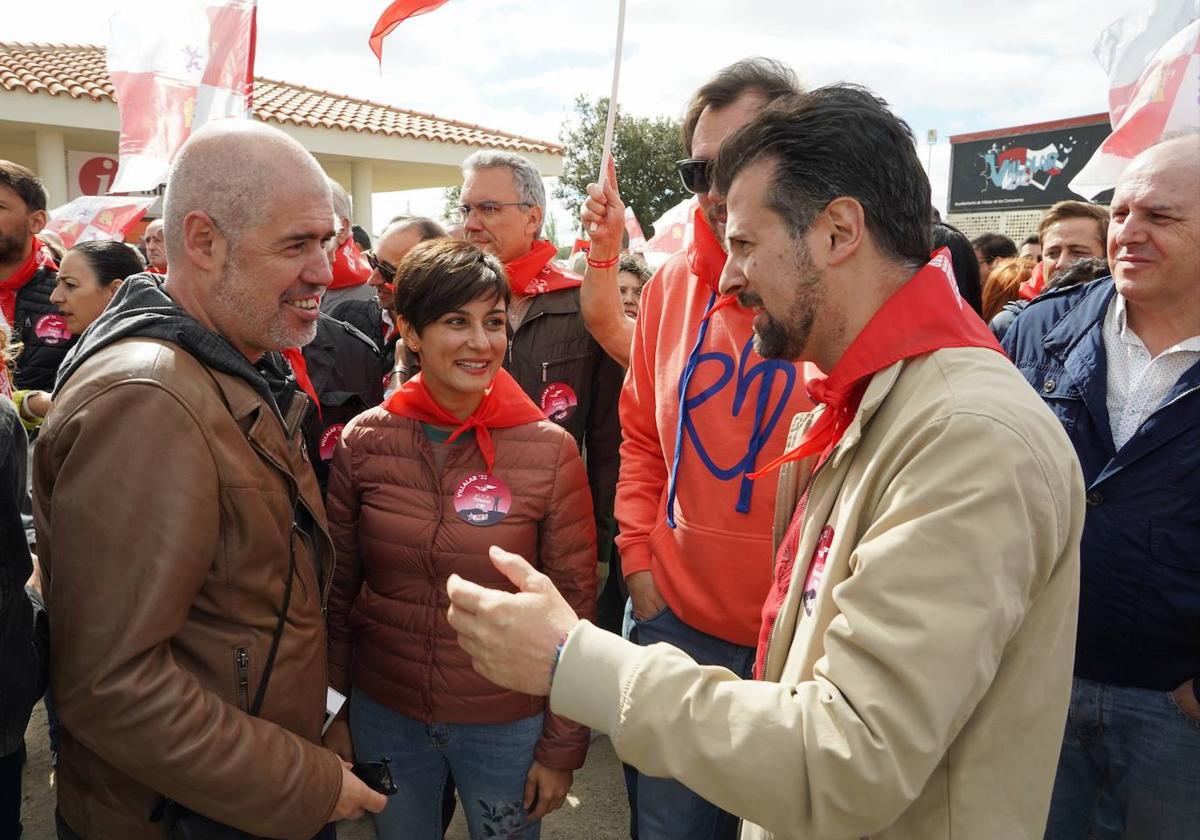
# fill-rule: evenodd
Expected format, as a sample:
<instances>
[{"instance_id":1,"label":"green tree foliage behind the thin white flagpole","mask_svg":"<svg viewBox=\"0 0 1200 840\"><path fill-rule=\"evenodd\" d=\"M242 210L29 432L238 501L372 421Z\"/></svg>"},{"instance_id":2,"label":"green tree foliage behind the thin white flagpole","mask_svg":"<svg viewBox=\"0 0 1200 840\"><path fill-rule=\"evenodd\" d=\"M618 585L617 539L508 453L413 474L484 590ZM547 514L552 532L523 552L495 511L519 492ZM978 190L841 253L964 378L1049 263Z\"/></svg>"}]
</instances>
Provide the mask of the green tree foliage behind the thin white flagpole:
<instances>
[{"instance_id":1,"label":"green tree foliage behind the thin white flagpole","mask_svg":"<svg viewBox=\"0 0 1200 840\"><path fill-rule=\"evenodd\" d=\"M566 155L554 196L576 218L587 197L587 185L594 182L600 173L607 116L607 96L600 100L580 96L575 100L575 113L563 122L559 133ZM649 238L654 235L654 220L688 197L674 166L684 157L679 120L626 116L618 107L612 157L617 163L622 200L634 208L642 230Z\"/></svg>"}]
</instances>

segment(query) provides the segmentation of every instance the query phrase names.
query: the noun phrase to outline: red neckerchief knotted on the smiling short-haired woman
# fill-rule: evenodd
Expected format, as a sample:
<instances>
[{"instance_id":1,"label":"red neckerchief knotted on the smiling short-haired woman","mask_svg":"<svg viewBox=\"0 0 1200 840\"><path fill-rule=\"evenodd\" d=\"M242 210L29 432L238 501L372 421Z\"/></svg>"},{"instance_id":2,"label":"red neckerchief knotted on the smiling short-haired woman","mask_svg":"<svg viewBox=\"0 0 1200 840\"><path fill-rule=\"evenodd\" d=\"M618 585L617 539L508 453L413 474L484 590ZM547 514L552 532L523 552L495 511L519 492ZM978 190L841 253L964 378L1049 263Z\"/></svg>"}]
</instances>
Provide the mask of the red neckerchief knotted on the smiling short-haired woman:
<instances>
[{"instance_id":1,"label":"red neckerchief knotted on the smiling short-haired woman","mask_svg":"<svg viewBox=\"0 0 1200 840\"><path fill-rule=\"evenodd\" d=\"M384 401L383 407L402 418L434 426L454 426L454 432L446 438L448 443L454 443L461 434L474 428L475 442L479 444L479 451L484 454L488 473L496 466L496 444L488 430L511 428L546 419L546 413L526 396L517 380L503 367L484 391L479 406L466 420L460 420L437 403L430 389L425 386L422 376L418 373L401 385Z\"/></svg>"}]
</instances>

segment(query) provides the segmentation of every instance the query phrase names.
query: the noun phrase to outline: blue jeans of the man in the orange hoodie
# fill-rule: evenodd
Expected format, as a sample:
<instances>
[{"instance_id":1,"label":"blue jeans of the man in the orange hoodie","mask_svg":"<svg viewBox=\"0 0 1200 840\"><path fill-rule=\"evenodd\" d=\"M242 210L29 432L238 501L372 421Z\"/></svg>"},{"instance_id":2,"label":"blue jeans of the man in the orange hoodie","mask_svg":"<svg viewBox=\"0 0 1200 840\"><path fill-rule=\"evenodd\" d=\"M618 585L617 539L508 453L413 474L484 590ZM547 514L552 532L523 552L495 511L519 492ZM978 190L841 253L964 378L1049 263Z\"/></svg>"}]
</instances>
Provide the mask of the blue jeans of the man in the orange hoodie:
<instances>
[{"instance_id":1,"label":"blue jeans of the man in the orange hoodie","mask_svg":"<svg viewBox=\"0 0 1200 840\"><path fill-rule=\"evenodd\" d=\"M743 679L754 672L754 648L733 644L695 630L671 612L635 622L632 640L638 644L666 642L700 665L719 665ZM638 840L734 840L738 818L722 811L674 779L637 775Z\"/></svg>"}]
</instances>

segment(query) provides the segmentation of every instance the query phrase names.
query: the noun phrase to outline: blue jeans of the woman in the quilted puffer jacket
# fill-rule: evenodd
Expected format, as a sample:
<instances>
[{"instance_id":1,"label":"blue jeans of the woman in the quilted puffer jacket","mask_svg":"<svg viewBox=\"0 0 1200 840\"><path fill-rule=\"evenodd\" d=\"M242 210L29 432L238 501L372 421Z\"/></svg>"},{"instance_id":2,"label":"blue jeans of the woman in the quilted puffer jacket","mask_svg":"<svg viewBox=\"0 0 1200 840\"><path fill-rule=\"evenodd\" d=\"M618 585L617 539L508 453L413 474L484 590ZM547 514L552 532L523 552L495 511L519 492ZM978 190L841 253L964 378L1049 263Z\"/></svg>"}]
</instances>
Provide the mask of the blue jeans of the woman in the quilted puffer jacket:
<instances>
[{"instance_id":1,"label":"blue jeans of the woman in the quilted puffer jacket","mask_svg":"<svg viewBox=\"0 0 1200 840\"><path fill-rule=\"evenodd\" d=\"M379 840L442 840L442 793L450 773L473 840L538 840L541 823L526 821L523 803L541 721L535 714L510 724L422 724L353 692L354 757L390 758L400 788L374 817Z\"/></svg>"}]
</instances>

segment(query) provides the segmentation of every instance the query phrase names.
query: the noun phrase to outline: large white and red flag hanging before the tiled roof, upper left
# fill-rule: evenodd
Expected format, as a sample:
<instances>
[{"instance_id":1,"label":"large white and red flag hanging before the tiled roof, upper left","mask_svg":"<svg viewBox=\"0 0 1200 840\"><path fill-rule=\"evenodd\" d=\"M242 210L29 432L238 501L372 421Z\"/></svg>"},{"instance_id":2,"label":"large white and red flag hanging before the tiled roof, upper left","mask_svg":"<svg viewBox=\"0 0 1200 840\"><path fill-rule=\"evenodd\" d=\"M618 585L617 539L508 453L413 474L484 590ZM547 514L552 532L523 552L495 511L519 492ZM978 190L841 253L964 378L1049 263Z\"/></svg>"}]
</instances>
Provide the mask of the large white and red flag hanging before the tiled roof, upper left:
<instances>
[{"instance_id":1,"label":"large white and red flag hanging before the tiled roof, upper left","mask_svg":"<svg viewBox=\"0 0 1200 840\"><path fill-rule=\"evenodd\" d=\"M254 0L172 0L110 18L108 73L121 112L112 192L154 190L192 131L250 116L254 14Z\"/></svg>"}]
</instances>

